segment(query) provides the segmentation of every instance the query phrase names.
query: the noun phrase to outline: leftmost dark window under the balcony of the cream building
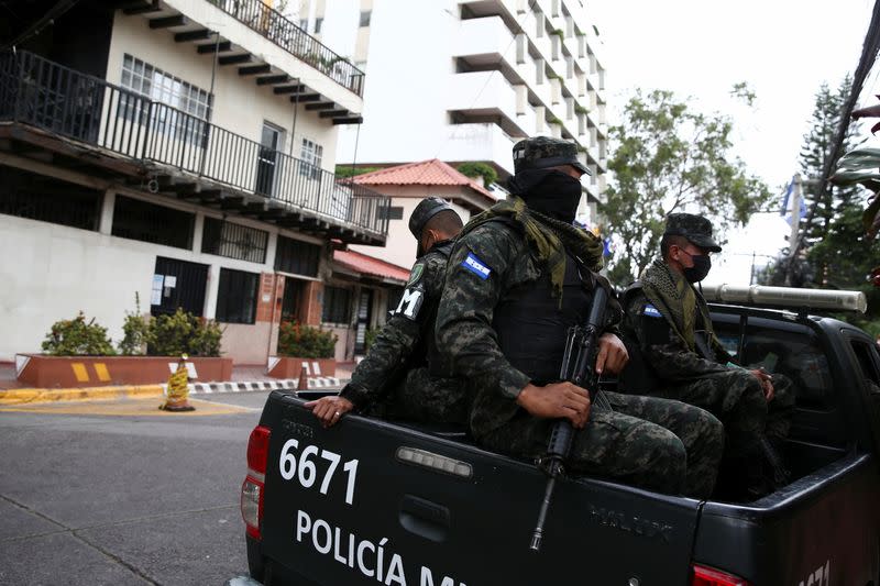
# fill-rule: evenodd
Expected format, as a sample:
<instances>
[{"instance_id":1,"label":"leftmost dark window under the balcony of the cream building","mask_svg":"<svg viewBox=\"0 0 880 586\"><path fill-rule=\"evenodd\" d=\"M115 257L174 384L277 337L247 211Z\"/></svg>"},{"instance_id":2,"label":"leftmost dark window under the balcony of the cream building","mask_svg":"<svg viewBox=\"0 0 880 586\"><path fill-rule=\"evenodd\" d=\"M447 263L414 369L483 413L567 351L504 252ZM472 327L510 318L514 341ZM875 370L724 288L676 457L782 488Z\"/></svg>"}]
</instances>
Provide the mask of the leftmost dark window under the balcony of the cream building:
<instances>
[{"instance_id":1,"label":"leftmost dark window under the balcony of the cream building","mask_svg":"<svg viewBox=\"0 0 880 586\"><path fill-rule=\"evenodd\" d=\"M0 213L98 230L103 194L54 177L0 166Z\"/></svg>"}]
</instances>

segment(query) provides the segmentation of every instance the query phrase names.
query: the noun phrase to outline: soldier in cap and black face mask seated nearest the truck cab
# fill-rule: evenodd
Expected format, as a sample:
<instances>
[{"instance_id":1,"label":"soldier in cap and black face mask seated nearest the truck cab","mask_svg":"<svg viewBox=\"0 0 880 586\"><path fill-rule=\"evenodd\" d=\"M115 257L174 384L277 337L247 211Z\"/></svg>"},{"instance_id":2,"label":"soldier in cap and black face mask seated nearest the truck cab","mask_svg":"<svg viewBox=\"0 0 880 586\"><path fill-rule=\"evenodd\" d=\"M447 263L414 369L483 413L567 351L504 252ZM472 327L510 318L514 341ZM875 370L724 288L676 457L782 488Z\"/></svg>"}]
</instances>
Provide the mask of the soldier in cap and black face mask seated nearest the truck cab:
<instances>
[{"instance_id":1,"label":"soldier in cap and black face mask seated nearest the truck cab","mask_svg":"<svg viewBox=\"0 0 880 586\"><path fill-rule=\"evenodd\" d=\"M778 449L789 432L794 392L784 375L745 369L724 350L708 307L694 288L721 252L712 223L672 213L661 241L661 259L624 294L625 338L638 376L625 373L623 386L702 407L725 424L725 483L733 498L755 499L785 482ZM644 362L641 365L636 363ZM641 366L641 368L638 368Z\"/></svg>"}]
</instances>

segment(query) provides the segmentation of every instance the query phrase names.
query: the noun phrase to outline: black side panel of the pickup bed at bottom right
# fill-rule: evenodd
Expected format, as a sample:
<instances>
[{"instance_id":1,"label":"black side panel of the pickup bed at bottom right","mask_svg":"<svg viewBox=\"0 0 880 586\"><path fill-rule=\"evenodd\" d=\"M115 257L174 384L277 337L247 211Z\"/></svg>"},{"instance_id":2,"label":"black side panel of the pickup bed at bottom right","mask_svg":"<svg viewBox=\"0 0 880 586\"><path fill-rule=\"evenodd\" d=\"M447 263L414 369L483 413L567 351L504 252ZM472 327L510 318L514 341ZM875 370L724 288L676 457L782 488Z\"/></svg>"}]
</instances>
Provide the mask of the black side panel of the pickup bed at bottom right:
<instances>
[{"instance_id":1,"label":"black side panel of the pickup bed at bottom right","mask_svg":"<svg viewBox=\"0 0 880 586\"><path fill-rule=\"evenodd\" d=\"M851 455L751 507L707 502L694 560L757 585L875 585L877 478L870 455Z\"/></svg>"}]
</instances>

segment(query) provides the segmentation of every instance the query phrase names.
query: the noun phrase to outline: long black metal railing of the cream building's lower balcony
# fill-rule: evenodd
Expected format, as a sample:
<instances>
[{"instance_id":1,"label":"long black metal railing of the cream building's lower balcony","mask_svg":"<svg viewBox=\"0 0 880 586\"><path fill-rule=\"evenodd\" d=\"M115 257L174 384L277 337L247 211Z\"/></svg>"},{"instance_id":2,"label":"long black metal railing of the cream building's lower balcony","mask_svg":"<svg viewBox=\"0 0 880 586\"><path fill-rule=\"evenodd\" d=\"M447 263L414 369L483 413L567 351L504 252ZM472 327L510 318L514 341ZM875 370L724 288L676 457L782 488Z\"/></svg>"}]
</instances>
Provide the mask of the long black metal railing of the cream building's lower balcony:
<instances>
[{"instance_id":1,"label":"long black metal railing of the cream building's lower balcony","mask_svg":"<svg viewBox=\"0 0 880 586\"><path fill-rule=\"evenodd\" d=\"M163 163L377 235L388 231L386 196L31 53L0 54L2 120Z\"/></svg>"}]
</instances>

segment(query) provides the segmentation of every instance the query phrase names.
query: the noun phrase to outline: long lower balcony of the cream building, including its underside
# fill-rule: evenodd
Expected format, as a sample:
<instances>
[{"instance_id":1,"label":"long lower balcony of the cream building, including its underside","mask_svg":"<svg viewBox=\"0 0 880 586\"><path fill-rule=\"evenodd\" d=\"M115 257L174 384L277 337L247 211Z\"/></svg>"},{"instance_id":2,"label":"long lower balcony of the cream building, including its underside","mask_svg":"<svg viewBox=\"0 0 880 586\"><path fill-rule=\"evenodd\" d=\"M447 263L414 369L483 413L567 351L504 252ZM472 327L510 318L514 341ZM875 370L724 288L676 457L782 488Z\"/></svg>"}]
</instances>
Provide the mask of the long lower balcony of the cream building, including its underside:
<instances>
[{"instance_id":1,"label":"long lower balcony of the cream building, including its underside","mask_svg":"<svg viewBox=\"0 0 880 586\"><path fill-rule=\"evenodd\" d=\"M26 52L0 54L0 148L344 242L388 231L385 196Z\"/></svg>"}]
</instances>

